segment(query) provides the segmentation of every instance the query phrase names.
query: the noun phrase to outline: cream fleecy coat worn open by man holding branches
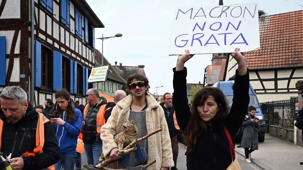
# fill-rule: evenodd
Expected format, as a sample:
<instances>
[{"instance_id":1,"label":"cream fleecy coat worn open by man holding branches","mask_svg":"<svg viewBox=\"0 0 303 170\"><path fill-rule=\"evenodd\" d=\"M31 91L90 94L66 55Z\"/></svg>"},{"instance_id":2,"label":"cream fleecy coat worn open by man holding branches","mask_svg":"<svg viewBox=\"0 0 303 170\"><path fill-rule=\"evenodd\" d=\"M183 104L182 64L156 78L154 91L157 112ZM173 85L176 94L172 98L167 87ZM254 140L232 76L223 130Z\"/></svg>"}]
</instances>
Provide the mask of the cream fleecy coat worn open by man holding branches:
<instances>
[{"instance_id":1,"label":"cream fleecy coat worn open by man holding branches","mask_svg":"<svg viewBox=\"0 0 303 170\"><path fill-rule=\"evenodd\" d=\"M148 137L148 161L156 160L147 170L160 170L162 167L173 167L173 154L171 149L170 135L162 107L156 102L151 94L145 96L147 102L146 127L147 133L162 129L151 137ZM113 148L117 147L114 136L122 131L122 124L129 119L129 108L133 102L133 96L128 95L113 108L111 116L101 128L103 142L103 154L107 158Z\"/></svg>"}]
</instances>

